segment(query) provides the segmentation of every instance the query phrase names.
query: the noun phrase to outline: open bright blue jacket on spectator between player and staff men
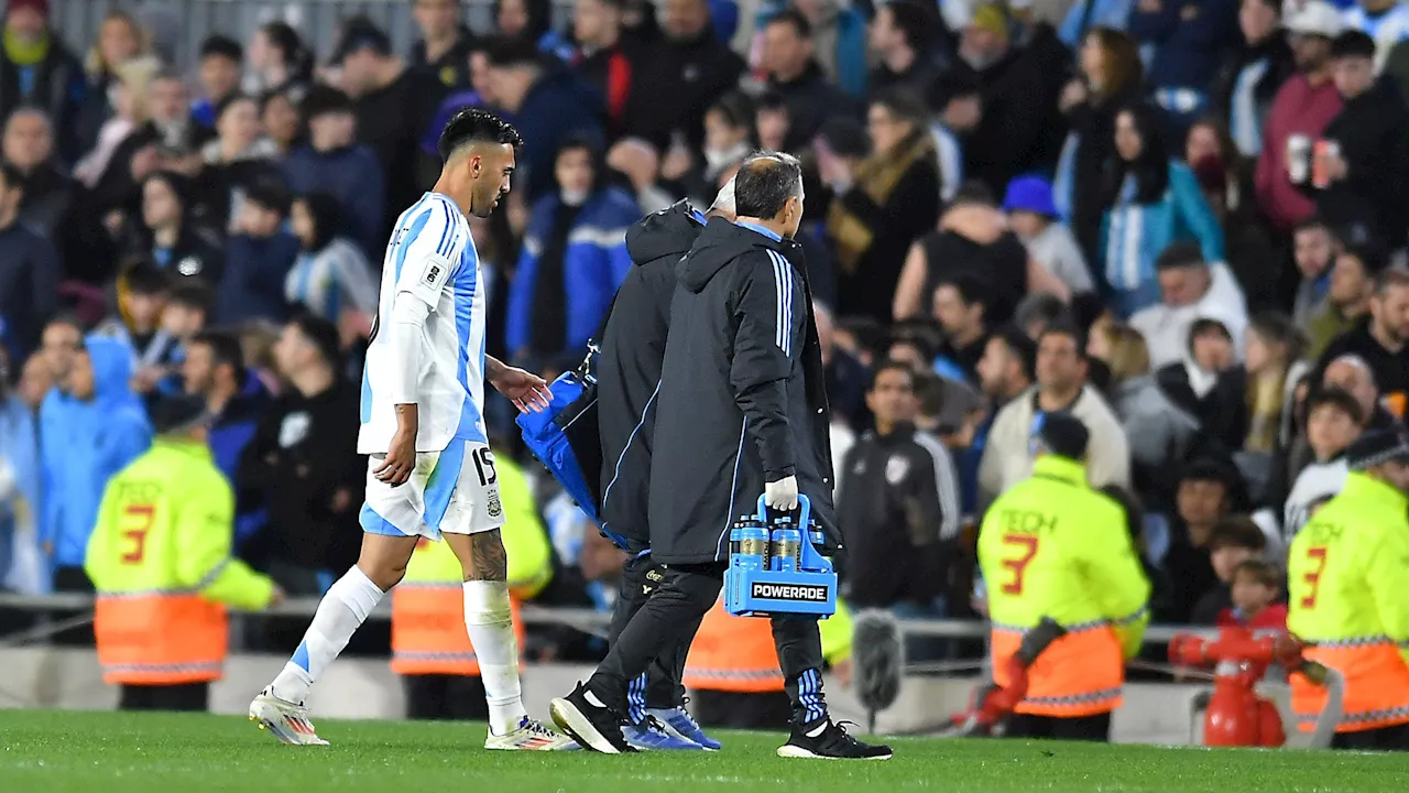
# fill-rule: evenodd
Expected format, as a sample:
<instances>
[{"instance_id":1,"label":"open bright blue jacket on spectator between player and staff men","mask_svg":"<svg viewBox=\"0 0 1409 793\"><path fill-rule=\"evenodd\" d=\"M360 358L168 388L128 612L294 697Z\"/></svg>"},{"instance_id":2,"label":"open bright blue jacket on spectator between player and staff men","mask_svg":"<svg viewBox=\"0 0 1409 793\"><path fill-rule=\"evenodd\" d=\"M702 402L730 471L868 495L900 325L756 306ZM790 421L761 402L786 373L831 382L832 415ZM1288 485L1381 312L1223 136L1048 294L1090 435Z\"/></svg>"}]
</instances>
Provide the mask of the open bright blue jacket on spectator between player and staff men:
<instances>
[{"instance_id":1,"label":"open bright blue jacket on spectator between player and staff men","mask_svg":"<svg viewBox=\"0 0 1409 793\"><path fill-rule=\"evenodd\" d=\"M554 195L540 199L533 207L519 268L509 286L504 341L511 351L523 350L531 339L540 255L545 237L552 233L552 219L559 206L562 200ZM617 286L631 270L626 230L640 219L641 210L635 200L620 189L607 188L588 198L568 231L568 244L562 253L568 336L562 341L562 350L534 350L535 353L551 356L586 350L588 339L597 332Z\"/></svg>"}]
</instances>

